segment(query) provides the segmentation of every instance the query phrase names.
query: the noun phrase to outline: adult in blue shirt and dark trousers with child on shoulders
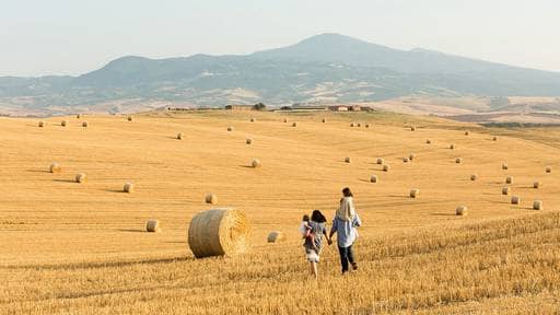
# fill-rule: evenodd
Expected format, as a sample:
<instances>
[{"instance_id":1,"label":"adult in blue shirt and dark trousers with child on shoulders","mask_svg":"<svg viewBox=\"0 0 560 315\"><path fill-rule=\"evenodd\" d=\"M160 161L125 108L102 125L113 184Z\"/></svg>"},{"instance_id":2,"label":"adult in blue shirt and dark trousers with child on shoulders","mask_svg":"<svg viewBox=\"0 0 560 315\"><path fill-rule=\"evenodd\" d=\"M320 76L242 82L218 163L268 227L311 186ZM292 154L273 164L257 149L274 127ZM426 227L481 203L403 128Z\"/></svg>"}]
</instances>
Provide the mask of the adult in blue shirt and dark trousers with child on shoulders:
<instances>
[{"instance_id":1,"label":"adult in blue shirt and dark trousers with child on shoulders","mask_svg":"<svg viewBox=\"0 0 560 315\"><path fill-rule=\"evenodd\" d=\"M362 225L360 217L355 213L354 200L350 188L342 189L342 199L340 199L340 207L337 214L332 220L332 228L330 229L329 237L337 233L338 253L340 254L340 264L342 265L342 275L348 272L348 265L352 269L358 269L358 264L354 260L352 253L352 245L358 238L358 230L355 228Z\"/></svg>"}]
</instances>

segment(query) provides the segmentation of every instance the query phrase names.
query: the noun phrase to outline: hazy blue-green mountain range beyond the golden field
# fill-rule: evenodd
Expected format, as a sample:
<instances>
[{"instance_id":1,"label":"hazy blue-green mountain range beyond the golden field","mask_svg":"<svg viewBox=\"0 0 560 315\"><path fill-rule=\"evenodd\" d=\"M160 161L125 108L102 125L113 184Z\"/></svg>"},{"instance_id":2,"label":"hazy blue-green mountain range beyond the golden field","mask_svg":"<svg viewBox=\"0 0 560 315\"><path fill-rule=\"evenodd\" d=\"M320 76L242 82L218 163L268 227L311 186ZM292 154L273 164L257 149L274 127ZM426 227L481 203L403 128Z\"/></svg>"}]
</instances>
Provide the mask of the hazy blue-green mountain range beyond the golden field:
<instances>
[{"instance_id":1,"label":"hazy blue-green mountain range beyond the golden field","mask_svg":"<svg viewBox=\"0 0 560 315\"><path fill-rule=\"evenodd\" d=\"M79 77L0 77L0 113L127 112L180 103L372 102L408 95L556 96L560 73L337 34L246 56L127 56ZM142 105L143 106L143 105Z\"/></svg>"}]
</instances>

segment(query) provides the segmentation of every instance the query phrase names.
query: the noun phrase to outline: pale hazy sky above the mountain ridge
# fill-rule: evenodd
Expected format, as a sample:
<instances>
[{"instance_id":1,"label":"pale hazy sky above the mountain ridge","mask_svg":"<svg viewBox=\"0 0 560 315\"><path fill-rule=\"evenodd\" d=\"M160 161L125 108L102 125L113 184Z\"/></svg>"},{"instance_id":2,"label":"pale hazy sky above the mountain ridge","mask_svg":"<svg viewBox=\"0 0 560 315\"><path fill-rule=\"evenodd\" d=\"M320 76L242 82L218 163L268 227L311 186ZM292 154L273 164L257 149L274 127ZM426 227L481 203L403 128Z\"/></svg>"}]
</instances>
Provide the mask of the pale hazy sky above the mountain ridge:
<instances>
[{"instance_id":1,"label":"pale hazy sky above the mountain ridge","mask_svg":"<svg viewBox=\"0 0 560 315\"><path fill-rule=\"evenodd\" d=\"M560 71L558 0L0 0L0 75L248 54L326 32Z\"/></svg>"}]
</instances>

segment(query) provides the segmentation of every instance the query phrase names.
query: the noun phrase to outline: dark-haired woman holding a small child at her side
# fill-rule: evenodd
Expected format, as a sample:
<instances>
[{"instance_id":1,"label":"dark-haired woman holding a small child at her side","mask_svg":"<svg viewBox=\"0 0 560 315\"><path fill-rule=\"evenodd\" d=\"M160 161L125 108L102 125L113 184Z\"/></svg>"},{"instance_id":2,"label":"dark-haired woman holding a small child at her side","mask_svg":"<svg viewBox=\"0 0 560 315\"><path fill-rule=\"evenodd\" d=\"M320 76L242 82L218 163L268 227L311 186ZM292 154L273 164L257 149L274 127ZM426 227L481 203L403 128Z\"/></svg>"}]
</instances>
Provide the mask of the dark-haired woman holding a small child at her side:
<instances>
[{"instance_id":1,"label":"dark-haired woman holding a small child at her side","mask_svg":"<svg viewBox=\"0 0 560 315\"><path fill-rule=\"evenodd\" d=\"M325 226L327 219L319 210L313 210L311 214L311 233L313 237L305 237L305 258L311 264L311 273L317 278L317 264L319 262L320 249L323 248L323 235L330 243L330 237L327 235L327 228Z\"/></svg>"}]
</instances>

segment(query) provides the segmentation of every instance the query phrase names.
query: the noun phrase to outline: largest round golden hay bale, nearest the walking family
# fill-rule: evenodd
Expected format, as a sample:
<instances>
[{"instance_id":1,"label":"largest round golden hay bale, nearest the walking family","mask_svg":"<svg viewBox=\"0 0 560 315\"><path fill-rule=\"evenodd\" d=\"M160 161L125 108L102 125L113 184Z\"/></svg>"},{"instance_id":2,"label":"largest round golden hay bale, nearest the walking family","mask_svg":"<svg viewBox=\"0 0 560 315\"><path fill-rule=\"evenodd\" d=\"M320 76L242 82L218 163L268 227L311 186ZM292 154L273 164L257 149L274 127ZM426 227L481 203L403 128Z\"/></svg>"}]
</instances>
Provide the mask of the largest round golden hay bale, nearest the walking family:
<instances>
[{"instance_id":1,"label":"largest round golden hay bale, nearest the walking family","mask_svg":"<svg viewBox=\"0 0 560 315\"><path fill-rule=\"evenodd\" d=\"M231 256L248 248L250 224L242 211L212 209L196 214L188 226L188 246L196 258Z\"/></svg>"}]
</instances>

